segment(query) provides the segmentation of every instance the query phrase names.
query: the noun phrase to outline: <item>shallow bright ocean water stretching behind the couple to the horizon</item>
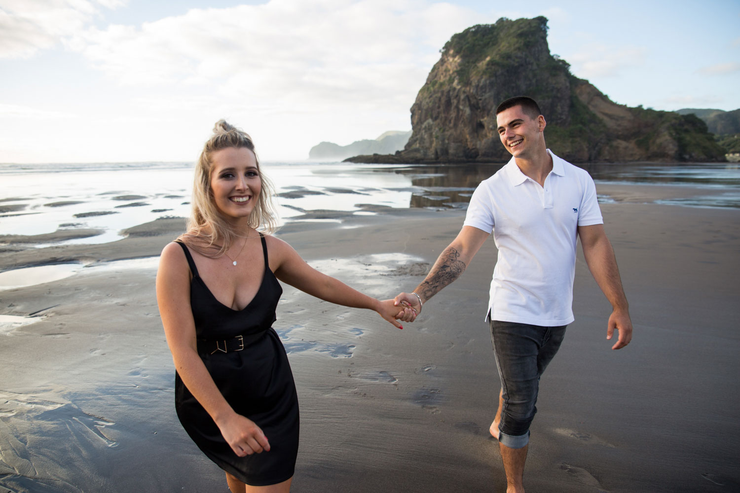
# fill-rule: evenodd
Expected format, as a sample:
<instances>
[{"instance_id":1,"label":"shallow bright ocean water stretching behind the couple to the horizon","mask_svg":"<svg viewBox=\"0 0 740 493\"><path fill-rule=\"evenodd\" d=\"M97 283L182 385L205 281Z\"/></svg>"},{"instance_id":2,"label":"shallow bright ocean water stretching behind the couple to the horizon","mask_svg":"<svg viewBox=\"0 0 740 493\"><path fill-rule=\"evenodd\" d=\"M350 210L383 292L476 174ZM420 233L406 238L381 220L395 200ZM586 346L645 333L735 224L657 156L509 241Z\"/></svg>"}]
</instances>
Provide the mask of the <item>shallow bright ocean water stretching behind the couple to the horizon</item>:
<instances>
[{"instance_id":1,"label":"shallow bright ocean water stretching behind the couple to the horizon","mask_svg":"<svg viewBox=\"0 0 740 493\"><path fill-rule=\"evenodd\" d=\"M360 205L464 209L477 184L502 165L266 162L261 166L275 183L275 202L284 224L306 221L299 219L305 211L374 214L363 211ZM740 208L737 163L611 163L583 167L597 186L630 183L707 191L656 203ZM159 217L186 217L191 190L192 163L0 164L0 235L32 236L58 229L95 228L102 233L63 243L111 242L121 239L121 231L134 225ZM599 200L612 201L607 195Z\"/></svg>"}]
</instances>

